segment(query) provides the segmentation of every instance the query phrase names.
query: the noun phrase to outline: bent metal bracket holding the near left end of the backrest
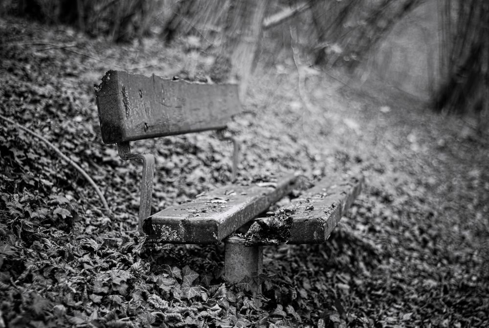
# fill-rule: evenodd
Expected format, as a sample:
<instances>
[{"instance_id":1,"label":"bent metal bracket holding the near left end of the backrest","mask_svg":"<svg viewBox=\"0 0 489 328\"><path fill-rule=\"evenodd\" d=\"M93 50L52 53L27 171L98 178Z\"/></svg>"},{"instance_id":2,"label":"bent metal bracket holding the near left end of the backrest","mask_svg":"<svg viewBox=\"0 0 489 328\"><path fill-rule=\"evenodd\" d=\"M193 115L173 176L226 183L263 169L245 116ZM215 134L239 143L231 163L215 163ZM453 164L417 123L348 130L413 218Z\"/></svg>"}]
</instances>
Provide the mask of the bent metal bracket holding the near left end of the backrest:
<instances>
[{"instance_id":1,"label":"bent metal bracket holding the near left end of the backrest","mask_svg":"<svg viewBox=\"0 0 489 328\"><path fill-rule=\"evenodd\" d=\"M151 196L153 193L153 176L155 172L155 156L152 154L133 154L129 142L117 144L119 156L124 160L141 159L143 174L141 176L141 198L139 201L138 231L143 234L143 222L151 215Z\"/></svg>"}]
</instances>

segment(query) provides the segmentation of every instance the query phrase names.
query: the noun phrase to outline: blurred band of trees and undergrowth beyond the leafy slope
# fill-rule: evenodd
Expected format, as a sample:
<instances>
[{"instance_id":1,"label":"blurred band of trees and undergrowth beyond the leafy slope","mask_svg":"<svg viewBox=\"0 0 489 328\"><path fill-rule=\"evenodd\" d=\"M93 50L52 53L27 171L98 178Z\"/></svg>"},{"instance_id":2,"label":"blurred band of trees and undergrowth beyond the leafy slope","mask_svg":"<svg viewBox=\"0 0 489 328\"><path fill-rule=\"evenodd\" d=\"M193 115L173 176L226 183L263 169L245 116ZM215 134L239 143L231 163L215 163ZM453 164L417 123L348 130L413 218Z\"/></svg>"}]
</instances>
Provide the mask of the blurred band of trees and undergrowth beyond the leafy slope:
<instances>
[{"instance_id":1,"label":"blurred band of trees and undergrowth beyond the leafy slope","mask_svg":"<svg viewBox=\"0 0 489 328\"><path fill-rule=\"evenodd\" d=\"M380 81L430 101L435 110L470 114L479 130L488 127L487 1L4 0L0 6L3 14L69 24L114 42L143 45L150 35L183 42L196 60L202 54L217 59L218 82L226 80L230 62L245 83L258 63L299 59L296 65L358 83Z\"/></svg>"}]
</instances>

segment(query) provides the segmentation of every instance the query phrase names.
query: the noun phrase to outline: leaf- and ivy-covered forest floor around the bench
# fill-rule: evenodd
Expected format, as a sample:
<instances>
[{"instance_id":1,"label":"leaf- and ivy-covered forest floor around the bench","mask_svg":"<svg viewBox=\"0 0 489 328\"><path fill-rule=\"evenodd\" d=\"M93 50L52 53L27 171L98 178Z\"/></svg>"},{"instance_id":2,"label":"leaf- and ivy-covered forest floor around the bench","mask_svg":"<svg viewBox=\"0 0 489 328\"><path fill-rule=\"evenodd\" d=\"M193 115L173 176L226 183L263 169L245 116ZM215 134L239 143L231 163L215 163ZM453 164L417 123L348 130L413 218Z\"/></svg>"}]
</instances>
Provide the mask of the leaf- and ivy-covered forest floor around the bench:
<instances>
[{"instance_id":1,"label":"leaf- and ivy-covered forest floor around the bench","mask_svg":"<svg viewBox=\"0 0 489 328\"><path fill-rule=\"evenodd\" d=\"M222 245L143 243L140 165L102 143L93 85L109 69L204 69L205 54L184 48L0 19L0 114L80 165L112 211L52 149L0 118L0 327L489 327L487 134L398 90L290 59L258 63L230 126L244 140L240 178L361 172L362 195L329 241L267 247L254 298L222 276ZM232 146L215 132L143 147L156 155L157 209L230 180Z\"/></svg>"}]
</instances>

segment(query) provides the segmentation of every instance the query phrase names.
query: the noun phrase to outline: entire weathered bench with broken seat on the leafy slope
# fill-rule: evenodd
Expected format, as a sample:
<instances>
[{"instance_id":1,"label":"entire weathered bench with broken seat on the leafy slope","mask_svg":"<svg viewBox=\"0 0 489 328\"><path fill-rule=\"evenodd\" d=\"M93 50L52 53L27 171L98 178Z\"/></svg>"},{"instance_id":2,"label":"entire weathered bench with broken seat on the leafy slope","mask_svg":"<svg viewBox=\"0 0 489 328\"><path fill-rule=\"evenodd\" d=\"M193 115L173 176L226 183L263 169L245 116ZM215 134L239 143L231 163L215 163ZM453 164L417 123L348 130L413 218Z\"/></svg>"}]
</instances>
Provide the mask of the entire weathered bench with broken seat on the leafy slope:
<instances>
[{"instance_id":1,"label":"entire weathered bench with broken seat on the leafy slope","mask_svg":"<svg viewBox=\"0 0 489 328\"><path fill-rule=\"evenodd\" d=\"M95 87L97 107L106 144L117 145L122 159L143 162L139 232L148 241L166 243L226 243L225 274L230 281L261 271L261 246L277 242L324 242L341 215L360 192L361 179L342 177L318 184L295 199L295 214L277 235L273 218L256 219L242 237L229 237L237 229L289 195L298 186L296 175L277 175L252 185L234 183L203 193L194 202L171 206L151 215L155 158L134 154L130 142L207 130L222 131L243 111L238 87L207 85L158 76L146 77L108 71ZM233 139L233 180L239 143ZM336 189L335 189L336 188ZM283 228L283 229L282 229ZM275 236L277 235L277 236ZM275 236L275 237L273 237ZM250 246L250 247L248 247Z\"/></svg>"}]
</instances>

